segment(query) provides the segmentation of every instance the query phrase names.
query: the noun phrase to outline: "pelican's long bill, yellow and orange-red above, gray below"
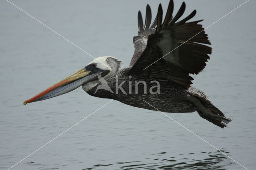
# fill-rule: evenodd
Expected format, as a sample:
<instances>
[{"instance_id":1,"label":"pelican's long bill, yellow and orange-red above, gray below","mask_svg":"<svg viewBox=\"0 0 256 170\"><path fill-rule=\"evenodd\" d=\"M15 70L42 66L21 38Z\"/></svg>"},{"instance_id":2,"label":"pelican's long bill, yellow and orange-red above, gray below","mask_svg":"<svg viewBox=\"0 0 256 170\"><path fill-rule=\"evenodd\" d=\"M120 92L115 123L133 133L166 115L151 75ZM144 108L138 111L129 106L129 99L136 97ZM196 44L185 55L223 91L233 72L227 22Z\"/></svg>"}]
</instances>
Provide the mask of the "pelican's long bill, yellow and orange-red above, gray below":
<instances>
[{"instance_id":1,"label":"pelican's long bill, yellow and orange-red above, gray below","mask_svg":"<svg viewBox=\"0 0 256 170\"><path fill-rule=\"evenodd\" d=\"M74 74L66 77L65 79L55 83L54 85L48 87L47 89L45 89L38 95L32 97L31 99L24 101L23 104L26 105L27 103L41 101L41 100L49 99L52 97L56 97L58 95L62 95L64 93L68 93L68 92L80 87L87 81L93 80L99 74L102 73L102 72L98 72L98 73L95 73L95 72L93 73L93 72L94 71L86 70L86 68L80 69L76 73L74 73Z\"/></svg>"}]
</instances>

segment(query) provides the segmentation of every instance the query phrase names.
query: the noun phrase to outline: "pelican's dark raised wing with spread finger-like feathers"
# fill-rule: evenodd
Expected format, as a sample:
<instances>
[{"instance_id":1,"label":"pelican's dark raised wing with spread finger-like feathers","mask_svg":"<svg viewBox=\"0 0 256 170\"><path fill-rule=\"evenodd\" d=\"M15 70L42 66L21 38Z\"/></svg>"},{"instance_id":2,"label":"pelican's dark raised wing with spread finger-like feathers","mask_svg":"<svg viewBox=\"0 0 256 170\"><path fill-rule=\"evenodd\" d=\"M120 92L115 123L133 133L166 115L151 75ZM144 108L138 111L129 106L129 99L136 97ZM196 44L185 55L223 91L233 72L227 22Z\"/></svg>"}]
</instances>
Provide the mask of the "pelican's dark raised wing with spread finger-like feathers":
<instances>
[{"instance_id":1,"label":"pelican's dark raised wing with spread finger-like feathers","mask_svg":"<svg viewBox=\"0 0 256 170\"><path fill-rule=\"evenodd\" d=\"M177 22L185 11L183 2L176 16L172 17L173 1L170 0L164 22L162 6L151 26L151 10L147 6L146 21L138 13L139 35L134 37L135 51L130 63L129 74L142 74L158 81L170 80L184 88L190 87L193 78L206 66L211 44L199 21L187 22L196 15L194 10L189 16Z\"/></svg>"}]
</instances>

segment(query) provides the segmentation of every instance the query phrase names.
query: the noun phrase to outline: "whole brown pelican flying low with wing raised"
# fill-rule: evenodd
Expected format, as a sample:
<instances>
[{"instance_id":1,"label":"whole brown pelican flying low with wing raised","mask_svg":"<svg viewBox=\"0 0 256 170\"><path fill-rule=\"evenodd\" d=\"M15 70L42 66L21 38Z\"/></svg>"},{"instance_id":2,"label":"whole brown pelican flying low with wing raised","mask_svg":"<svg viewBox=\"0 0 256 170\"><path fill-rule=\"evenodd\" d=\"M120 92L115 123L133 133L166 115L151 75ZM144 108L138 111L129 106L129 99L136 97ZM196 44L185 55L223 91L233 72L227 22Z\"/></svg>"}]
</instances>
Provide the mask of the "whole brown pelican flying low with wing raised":
<instances>
[{"instance_id":1,"label":"whole brown pelican flying low with wing raised","mask_svg":"<svg viewBox=\"0 0 256 170\"><path fill-rule=\"evenodd\" d=\"M80 86L89 95L120 101L134 107L167 113L198 114L211 123L224 128L232 121L216 108L200 90L190 86L193 78L206 66L212 48L205 34L202 20L188 22L196 15L194 10L178 21L185 11L183 2L172 17L170 0L164 21L159 4L155 20L151 23L151 9L146 6L143 25L138 12L138 36L134 36L134 55L129 67L120 69L122 61L115 57L98 57L76 73L66 77L38 95L24 101L41 101L68 93ZM178 21L178 22L177 22Z\"/></svg>"}]
</instances>

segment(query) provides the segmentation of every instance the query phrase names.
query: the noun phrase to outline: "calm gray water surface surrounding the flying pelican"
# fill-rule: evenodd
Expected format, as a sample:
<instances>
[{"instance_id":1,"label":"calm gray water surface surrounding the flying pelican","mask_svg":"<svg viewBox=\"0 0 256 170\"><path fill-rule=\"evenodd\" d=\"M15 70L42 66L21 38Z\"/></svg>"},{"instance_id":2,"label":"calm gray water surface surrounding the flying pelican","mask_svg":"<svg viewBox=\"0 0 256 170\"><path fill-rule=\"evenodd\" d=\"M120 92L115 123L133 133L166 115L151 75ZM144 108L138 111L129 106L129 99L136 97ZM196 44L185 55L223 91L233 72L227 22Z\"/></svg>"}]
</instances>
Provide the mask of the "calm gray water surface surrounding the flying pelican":
<instances>
[{"instance_id":1,"label":"calm gray water surface surrounding the flying pelican","mask_svg":"<svg viewBox=\"0 0 256 170\"><path fill-rule=\"evenodd\" d=\"M156 1L18 1L28 12L94 57L111 55L128 66L137 35L137 12ZM167 1L160 1L166 11ZM182 1L175 1L177 12ZM244 0L186 1L188 15L206 28ZM206 33L213 53L206 69L194 75L227 117L221 129L197 113L169 117L243 166L256 162L256 2L250 0ZM0 2L0 169L8 169L110 99L82 88L45 101L22 105L56 81L92 61L7 1ZM244 169L160 112L112 101L12 169Z\"/></svg>"}]
</instances>

